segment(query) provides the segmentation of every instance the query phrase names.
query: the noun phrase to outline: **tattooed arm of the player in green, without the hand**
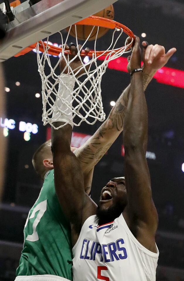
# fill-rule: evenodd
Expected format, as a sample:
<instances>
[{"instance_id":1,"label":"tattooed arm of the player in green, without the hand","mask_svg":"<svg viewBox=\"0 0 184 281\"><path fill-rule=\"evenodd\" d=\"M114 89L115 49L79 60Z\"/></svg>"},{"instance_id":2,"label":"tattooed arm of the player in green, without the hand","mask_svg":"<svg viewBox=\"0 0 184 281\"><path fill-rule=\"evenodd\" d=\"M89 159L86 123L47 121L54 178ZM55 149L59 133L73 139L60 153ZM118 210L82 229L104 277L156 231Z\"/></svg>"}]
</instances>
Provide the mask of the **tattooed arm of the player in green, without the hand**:
<instances>
[{"instance_id":1,"label":"tattooed arm of the player in green, without the hand","mask_svg":"<svg viewBox=\"0 0 184 281\"><path fill-rule=\"evenodd\" d=\"M146 73L146 71L143 71L144 90L151 81L153 75L154 72L149 71L149 73ZM129 92L130 85L122 92L106 121L104 121L96 133L94 133L94 135L75 152L75 155L81 164L84 179L87 182L85 186L88 186L88 191L90 190L90 184L93 176L91 169L93 169L93 167L100 161L103 155L123 131ZM90 177L88 177L89 174Z\"/></svg>"}]
</instances>

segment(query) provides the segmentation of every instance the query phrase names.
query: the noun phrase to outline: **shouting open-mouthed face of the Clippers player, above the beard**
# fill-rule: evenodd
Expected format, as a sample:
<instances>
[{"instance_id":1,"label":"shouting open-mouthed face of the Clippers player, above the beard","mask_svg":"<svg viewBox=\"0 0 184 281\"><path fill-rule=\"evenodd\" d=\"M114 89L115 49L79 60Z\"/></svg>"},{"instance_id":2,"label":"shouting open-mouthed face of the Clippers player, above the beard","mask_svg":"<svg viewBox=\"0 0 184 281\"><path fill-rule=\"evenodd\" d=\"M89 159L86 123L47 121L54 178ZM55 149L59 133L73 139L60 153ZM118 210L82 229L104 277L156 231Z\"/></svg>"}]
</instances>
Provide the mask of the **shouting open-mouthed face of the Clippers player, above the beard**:
<instances>
[{"instance_id":1,"label":"shouting open-mouthed face of the Clippers player, above the beard","mask_svg":"<svg viewBox=\"0 0 184 281\"><path fill-rule=\"evenodd\" d=\"M103 211L117 204L124 205L124 207L127 205L127 191L124 177L113 178L103 187L98 207Z\"/></svg>"}]
</instances>

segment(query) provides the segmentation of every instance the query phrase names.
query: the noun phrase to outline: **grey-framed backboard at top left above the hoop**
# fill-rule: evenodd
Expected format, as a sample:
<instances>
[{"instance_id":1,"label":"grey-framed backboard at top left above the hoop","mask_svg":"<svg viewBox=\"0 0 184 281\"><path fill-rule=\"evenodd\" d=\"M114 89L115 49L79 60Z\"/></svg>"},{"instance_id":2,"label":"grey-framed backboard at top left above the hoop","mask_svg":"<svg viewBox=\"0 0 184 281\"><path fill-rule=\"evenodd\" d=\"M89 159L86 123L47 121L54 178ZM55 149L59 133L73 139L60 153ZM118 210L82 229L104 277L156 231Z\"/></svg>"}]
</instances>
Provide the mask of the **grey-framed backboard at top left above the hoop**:
<instances>
[{"instance_id":1,"label":"grey-framed backboard at top left above the hoop","mask_svg":"<svg viewBox=\"0 0 184 281\"><path fill-rule=\"evenodd\" d=\"M0 46L0 61L25 47L52 35L117 0L42 0L33 6L28 1L13 8L15 19L7 25L6 39Z\"/></svg>"}]
</instances>

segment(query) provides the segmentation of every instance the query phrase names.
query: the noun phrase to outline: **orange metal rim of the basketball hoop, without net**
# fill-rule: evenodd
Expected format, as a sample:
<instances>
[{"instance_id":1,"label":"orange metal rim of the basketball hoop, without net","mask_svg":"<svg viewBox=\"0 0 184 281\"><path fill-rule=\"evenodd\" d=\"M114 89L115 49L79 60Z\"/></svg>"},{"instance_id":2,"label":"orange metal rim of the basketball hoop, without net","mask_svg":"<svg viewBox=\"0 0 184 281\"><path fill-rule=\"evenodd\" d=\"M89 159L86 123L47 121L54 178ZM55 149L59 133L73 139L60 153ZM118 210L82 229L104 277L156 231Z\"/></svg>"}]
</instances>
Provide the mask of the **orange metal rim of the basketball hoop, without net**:
<instances>
[{"instance_id":1,"label":"orange metal rim of the basketball hoop, without net","mask_svg":"<svg viewBox=\"0 0 184 281\"><path fill-rule=\"evenodd\" d=\"M95 25L95 26L105 27L105 28L109 28L109 29L115 29L115 28L123 29L123 31L131 38L131 40L133 39L133 41L134 41L134 38L135 38L134 33L129 28L127 28L125 25L123 25L121 23L118 23L115 20L110 20L108 18L102 18L102 17L97 17L97 16L89 16L88 18L85 18L84 20L80 20L79 22L75 23L75 25L93 25L93 26ZM124 46L124 47L121 47L121 48L118 48L118 49L114 49L113 53L119 52L120 50L124 50L124 49L125 49L125 51L127 51L128 49L130 49L132 47L133 41L126 48ZM39 43L39 51L40 52L44 52L46 46L49 46L49 49L47 50L47 52L50 55L59 56L59 54L62 52L61 47L56 47L56 46L47 44L47 43L42 42L42 41L39 41L38 43ZM24 55L27 52L30 52L31 50L33 50L35 48L36 44L37 43L34 43L34 44L30 45L29 47L25 48L24 50L22 50L21 52L19 52L15 56ZM100 56L100 55L107 56L111 52L112 52L112 50L108 50L108 51L89 51L89 52L86 52L86 51L82 50L81 56L92 57L93 54L94 55L96 54L96 56ZM68 51L64 51L64 53L68 54Z\"/></svg>"}]
</instances>

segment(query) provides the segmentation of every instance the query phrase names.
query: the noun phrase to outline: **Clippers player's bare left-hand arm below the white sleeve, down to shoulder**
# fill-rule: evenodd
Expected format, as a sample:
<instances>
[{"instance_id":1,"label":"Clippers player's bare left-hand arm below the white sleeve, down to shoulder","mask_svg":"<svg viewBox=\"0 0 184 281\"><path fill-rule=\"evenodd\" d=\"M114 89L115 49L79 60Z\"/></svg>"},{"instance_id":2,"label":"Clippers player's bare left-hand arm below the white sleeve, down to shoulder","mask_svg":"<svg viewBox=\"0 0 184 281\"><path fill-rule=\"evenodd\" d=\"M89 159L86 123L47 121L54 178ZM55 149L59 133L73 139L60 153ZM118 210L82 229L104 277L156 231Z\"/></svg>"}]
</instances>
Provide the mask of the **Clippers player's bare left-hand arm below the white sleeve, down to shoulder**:
<instances>
[{"instance_id":1,"label":"Clippers player's bare left-hand arm below the white sleeve, down to shoulder","mask_svg":"<svg viewBox=\"0 0 184 281\"><path fill-rule=\"evenodd\" d=\"M54 125L58 127L61 122ZM83 173L79 161L70 149L71 131L72 128L68 124L58 130L52 128L51 135L55 190L71 223L72 240L75 244L82 224L87 217L95 214L96 204L84 192Z\"/></svg>"}]
</instances>

